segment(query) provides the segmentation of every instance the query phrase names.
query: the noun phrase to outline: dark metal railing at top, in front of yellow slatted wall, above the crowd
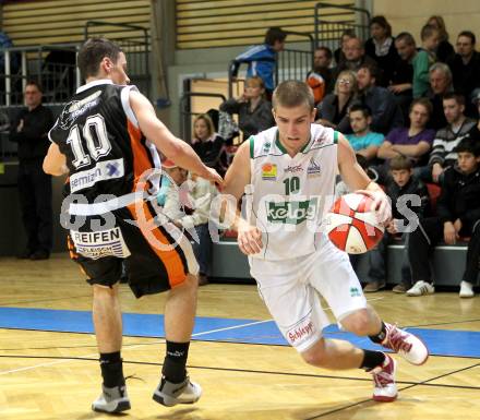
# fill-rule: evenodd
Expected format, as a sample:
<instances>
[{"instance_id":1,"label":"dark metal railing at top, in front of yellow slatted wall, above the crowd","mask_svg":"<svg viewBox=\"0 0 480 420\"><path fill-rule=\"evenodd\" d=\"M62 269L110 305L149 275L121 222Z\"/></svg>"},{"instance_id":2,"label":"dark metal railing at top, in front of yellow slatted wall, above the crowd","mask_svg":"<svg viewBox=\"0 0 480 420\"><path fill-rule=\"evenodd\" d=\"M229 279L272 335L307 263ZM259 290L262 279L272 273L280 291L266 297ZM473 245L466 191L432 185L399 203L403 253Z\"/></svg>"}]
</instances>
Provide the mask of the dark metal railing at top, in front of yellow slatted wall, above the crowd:
<instances>
[{"instance_id":1,"label":"dark metal railing at top, in front of yellow slatted wall, above the crowd","mask_svg":"<svg viewBox=\"0 0 480 420\"><path fill-rule=\"evenodd\" d=\"M325 46L332 51L335 50L346 29L352 29L359 38L365 40L370 36L369 22L370 12L367 9L328 2L316 3L315 46Z\"/></svg>"}]
</instances>

